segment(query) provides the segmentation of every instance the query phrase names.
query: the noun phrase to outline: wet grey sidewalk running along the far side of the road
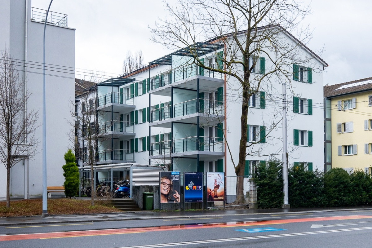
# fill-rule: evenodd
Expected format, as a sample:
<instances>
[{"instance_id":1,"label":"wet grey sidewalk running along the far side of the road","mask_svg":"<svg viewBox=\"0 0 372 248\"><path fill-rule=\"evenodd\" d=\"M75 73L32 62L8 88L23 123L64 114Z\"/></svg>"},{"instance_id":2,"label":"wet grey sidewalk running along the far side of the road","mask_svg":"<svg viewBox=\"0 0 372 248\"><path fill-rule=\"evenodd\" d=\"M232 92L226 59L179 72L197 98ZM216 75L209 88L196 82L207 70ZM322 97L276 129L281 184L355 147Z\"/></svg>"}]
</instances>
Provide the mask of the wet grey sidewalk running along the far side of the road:
<instances>
[{"instance_id":1,"label":"wet grey sidewalk running along the far side of the road","mask_svg":"<svg viewBox=\"0 0 372 248\"><path fill-rule=\"evenodd\" d=\"M332 207L332 208L297 208L297 209L236 209L236 210L204 210L186 212L118 212L97 215L49 215L48 217L3 217L0 218L0 226L7 225L40 225L52 223L92 222L92 221L118 221L118 220L141 220L141 219L169 219L169 218L202 218L215 216L254 215L254 214L278 214L278 213L306 213L306 212L332 212L332 211L363 211L372 210L372 206L362 207Z\"/></svg>"}]
</instances>

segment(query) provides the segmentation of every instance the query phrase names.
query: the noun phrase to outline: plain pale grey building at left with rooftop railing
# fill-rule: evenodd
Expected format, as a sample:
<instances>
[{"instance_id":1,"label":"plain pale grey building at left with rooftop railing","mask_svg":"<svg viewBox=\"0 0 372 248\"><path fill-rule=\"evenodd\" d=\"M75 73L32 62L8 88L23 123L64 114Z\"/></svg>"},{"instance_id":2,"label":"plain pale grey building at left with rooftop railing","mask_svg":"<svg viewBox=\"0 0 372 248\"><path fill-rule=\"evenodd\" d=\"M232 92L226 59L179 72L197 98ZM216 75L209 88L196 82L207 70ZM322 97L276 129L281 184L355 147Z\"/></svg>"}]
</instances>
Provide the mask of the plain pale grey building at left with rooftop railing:
<instances>
[{"instance_id":1,"label":"plain pale grey building at left with rooftop railing","mask_svg":"<svg viewBox=\"0 0 372 248\"><path fill-rule=\"evenodd\" d=\"M20 77L31 93L27 109L36 109L42 124L43 32L46 10L31 7L31 0L0 1L0 50L7 49L18 63ZM51 10L53 10L51 8ZM53 17L51 18L51 14ZM27 63L25 63L25 61ZM71 100L74 99L75 29L67 15L49 11L45 34L47 185L62 186L64 154L71 147ZM11 169L11 196L42 195L42 127L36 130L39 153ZM28 167L28 172L27 172ZM26 172L26 175L25 175ZM28 179L28 181L27 181ZM6 169L0 166L0 199L6 196Z\"/></svg>"}]
</instances>

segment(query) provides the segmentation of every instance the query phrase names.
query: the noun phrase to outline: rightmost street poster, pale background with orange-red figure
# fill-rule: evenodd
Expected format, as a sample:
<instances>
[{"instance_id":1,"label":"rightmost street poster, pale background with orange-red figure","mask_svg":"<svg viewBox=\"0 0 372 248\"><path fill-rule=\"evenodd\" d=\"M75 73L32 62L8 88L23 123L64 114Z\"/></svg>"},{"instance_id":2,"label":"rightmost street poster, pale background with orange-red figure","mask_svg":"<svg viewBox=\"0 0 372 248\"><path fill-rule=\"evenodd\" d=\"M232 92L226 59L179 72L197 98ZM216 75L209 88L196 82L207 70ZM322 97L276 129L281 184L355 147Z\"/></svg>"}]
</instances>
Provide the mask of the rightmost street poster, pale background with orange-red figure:
<instances>
[{"instance_id":1,"label":"rightmost street poster, pale background with orange-red figure","mask_svg":"<svg viewBox=\"0 0 372 248\"><path fill-rule=\"evenodd\" d=\"M225 200L224 173L207 172L207 202L221 202Z\"/></svg>"}]
</instances>

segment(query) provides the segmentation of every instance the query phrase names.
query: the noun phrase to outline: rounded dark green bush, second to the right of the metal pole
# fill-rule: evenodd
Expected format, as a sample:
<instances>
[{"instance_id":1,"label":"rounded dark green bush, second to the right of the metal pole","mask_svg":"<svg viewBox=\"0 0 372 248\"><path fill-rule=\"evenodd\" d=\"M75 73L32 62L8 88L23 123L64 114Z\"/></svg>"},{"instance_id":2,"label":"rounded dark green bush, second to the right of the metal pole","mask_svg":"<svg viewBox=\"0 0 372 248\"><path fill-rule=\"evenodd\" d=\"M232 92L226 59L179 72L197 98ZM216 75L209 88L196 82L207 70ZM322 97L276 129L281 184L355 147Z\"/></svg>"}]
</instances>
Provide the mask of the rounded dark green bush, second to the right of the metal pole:
<instances>
[{"instance_id":1,"label":"rounded dark green bush, second to the right of the metal pole","mask_svg":"<svg viewBox=\"0 0 372 248\"><path fill-rule=\"evenodd\" d=\"M332 168L324 174L324 197L327 207L355 206L351 177L342 168Z\"/></svg>"}]
</instances>

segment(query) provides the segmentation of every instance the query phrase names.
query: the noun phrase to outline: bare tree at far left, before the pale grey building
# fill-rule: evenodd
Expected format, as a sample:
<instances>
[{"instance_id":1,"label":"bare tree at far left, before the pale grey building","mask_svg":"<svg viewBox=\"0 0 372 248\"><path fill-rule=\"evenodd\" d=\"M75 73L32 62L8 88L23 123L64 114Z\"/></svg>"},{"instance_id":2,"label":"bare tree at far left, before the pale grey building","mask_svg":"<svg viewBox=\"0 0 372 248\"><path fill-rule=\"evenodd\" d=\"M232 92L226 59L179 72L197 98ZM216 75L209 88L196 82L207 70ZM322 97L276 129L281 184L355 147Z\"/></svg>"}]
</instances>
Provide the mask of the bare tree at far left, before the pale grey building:
<instances>
[{"instance_id":1,"label":"bare tree at far left, before the pale grey building","mask_svg":"<svg viewBox=\"0 0 372 248\"><path fill-rule=\"evenodd\" d=\"M6 207L10 207L10 169L25 158L32 158L38 147L35 138L38 112L25 104L30 93L25 92L25 81L20 78L17 64L7 50L0 59L0 161L6 174Z\"/></svg>"}]
</instances>

